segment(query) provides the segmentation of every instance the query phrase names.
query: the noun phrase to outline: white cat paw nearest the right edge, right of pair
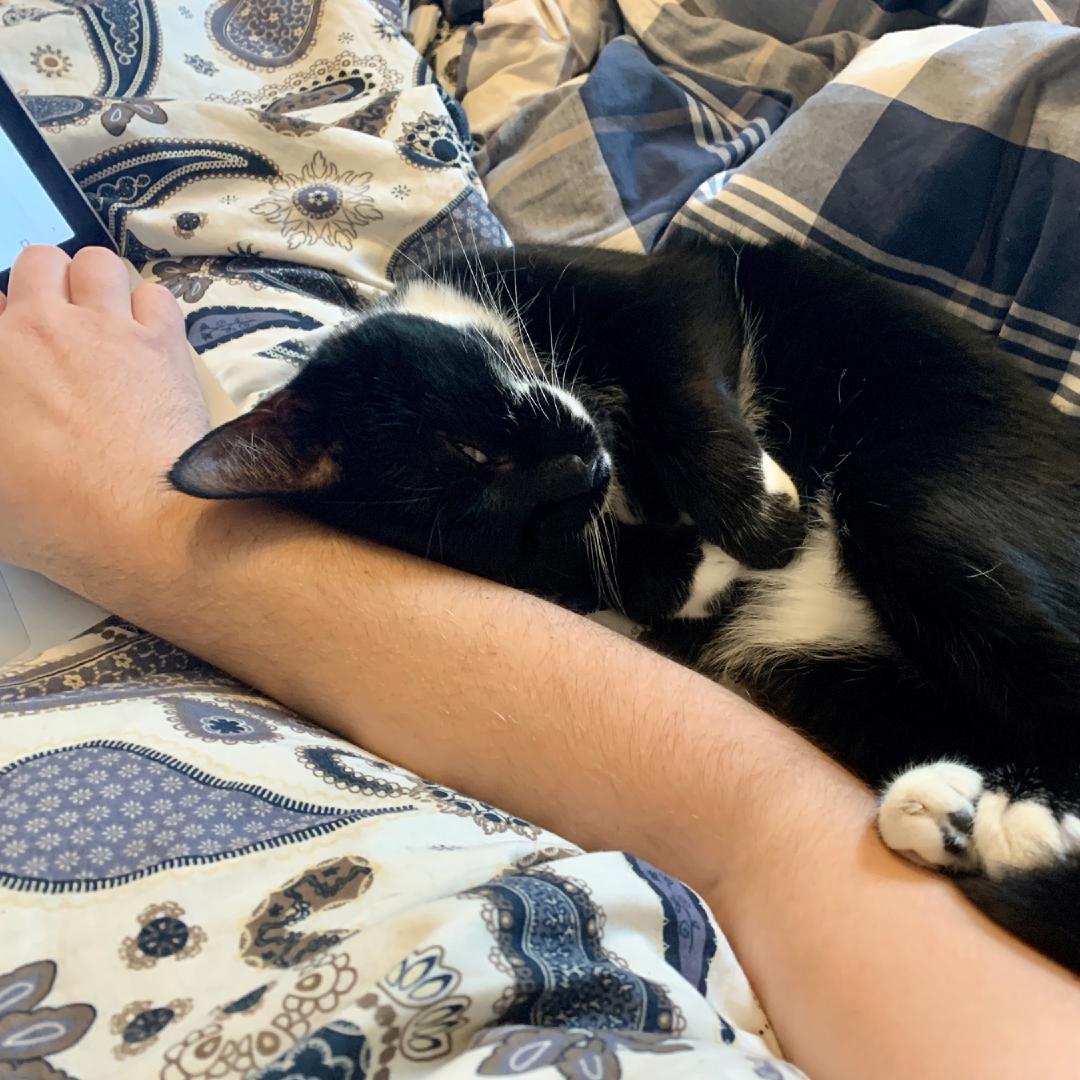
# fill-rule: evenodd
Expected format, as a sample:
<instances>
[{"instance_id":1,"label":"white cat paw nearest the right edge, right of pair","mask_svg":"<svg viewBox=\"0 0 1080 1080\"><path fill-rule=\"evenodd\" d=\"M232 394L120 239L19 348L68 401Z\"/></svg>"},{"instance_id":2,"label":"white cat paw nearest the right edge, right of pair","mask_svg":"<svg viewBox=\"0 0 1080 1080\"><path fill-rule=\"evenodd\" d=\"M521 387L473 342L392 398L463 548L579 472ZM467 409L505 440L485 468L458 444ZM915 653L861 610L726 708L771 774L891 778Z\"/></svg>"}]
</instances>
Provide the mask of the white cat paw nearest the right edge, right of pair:
<instances>
[{"instance_id":1,"label":"white cat paw nearest the right edge, right of pair","mask_svg":"<svg viewBox=\"0 0 1080 1080\"><path fill-rule=\"evenodd\" d=\"M1010 800L1003 792L987 792L975 811L972 839L987 877L1010 870L1032 870L1056 863L1072 850L1072 823L1059 822L1037 799Z\"/></svg>"}]
</instances>

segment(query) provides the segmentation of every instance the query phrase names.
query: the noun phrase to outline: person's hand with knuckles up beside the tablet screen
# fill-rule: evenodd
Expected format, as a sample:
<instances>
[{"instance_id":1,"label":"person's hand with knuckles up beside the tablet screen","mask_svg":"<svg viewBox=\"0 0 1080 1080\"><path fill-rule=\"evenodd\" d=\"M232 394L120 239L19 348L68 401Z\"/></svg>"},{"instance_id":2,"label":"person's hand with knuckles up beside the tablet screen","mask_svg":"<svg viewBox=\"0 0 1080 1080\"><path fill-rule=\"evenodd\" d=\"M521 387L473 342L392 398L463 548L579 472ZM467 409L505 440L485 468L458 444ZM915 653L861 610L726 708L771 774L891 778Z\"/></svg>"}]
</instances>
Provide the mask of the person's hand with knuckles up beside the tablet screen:
<instances>
[{"instance_id":1,"label":"person's hand with knuckles up beside the tablet screen","mask_svg":"<svg viewBox=\"0 0 1080 1080\"><path fill-rule=\"evenodd\" d=\"M105 248L28 247L0 295L0 559L79 588L160 535L208 421L184 320Z\"/></svg>"}]
</instances>

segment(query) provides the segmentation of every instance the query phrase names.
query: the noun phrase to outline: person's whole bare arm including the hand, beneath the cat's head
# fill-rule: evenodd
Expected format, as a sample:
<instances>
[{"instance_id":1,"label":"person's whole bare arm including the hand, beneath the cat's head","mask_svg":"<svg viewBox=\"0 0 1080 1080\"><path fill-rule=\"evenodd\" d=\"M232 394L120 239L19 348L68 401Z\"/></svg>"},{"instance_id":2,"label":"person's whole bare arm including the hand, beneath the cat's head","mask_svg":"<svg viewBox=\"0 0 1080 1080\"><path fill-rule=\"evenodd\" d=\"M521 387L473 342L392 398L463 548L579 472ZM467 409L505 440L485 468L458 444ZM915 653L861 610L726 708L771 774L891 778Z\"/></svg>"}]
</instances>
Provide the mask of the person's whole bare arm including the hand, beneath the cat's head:
<instances>
[{"instance_id":1,"label":"person's whole bare arm including the hand, beneath the cat's head","mask_svg":"<svg viewBox=\"0 0 1080 1080\"><path fill-rule=\"evenodd\" d=\"M1070 1074L1069 976L885 851L869 793L781 725L529 596L165 489L206 422L175 305L129 301L95 253L69 303L60 258L24 259L0 314L0 557L383 757L687 880L813 1077Z\"/></svg>"}]
</instances>

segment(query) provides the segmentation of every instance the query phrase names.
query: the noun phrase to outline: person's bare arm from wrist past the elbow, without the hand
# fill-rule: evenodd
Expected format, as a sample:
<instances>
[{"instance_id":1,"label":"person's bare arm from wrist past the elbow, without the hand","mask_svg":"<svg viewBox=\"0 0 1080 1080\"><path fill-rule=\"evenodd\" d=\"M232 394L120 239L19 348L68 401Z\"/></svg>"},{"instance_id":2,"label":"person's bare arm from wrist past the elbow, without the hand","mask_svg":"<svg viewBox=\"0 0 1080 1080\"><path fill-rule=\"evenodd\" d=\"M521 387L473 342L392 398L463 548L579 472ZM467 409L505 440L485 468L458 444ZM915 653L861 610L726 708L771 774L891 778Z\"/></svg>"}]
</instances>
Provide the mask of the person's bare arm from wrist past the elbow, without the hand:
<instances>
[{"instance_id":1,"label":"person's bare arm from wrist past the elbow, without the hand","mask_svg":"<svg viewBox=\"0 0 1080 1080\"><path fill-rule=\"evenodd\" d=\"M869 793L740 699L262 507L172 521L152 558L70 583L375 753L687 880L811 1076L1057 1076L1080 1054L1068 977L886 852Z\"/></svg>"}]
</instances>

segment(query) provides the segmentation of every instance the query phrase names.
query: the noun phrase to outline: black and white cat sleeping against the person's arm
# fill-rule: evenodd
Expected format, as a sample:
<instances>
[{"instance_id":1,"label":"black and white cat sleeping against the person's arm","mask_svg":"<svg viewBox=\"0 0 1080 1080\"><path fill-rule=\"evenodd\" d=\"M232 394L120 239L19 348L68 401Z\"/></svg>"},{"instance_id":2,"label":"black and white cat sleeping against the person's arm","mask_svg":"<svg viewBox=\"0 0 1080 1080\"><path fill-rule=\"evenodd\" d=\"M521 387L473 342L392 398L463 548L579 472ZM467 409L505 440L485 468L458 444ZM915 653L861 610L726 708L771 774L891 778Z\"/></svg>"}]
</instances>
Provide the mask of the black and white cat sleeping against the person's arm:
<instances>
[{"instance_id":1,"label":"black and white cat sleeping against the person's arm","mask_svg":"<svg viewBox=\"0 0 1080 1080\"><path fill-rule=\"evenodd\" d=\"M788 244L477 253L171 480L615 609L1080 972L1080 426L989 337Z\"/></svg>"}]
</instances>

